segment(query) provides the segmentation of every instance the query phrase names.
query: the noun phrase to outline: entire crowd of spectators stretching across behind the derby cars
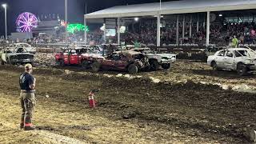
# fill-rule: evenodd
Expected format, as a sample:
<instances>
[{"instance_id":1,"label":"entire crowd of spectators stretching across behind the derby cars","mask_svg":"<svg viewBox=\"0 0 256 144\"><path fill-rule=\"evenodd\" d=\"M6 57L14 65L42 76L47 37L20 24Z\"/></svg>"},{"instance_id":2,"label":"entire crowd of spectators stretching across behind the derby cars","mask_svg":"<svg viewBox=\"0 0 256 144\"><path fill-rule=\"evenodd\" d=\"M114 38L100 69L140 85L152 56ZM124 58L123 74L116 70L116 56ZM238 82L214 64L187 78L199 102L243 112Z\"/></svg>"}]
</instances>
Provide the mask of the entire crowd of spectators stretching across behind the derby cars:
<instances>
[{"instance_id":1,"label":"entire crowd of spectators stretching across behind the derby cars","mask_svg":"<svg viewBox=\"0 0 256 144\"><path fill-rule=\"evenodd\" d=\"M176 44L176 24L162 26L161 28L161 43L162 45ZM104 40L104 32L102 30L94 30L87 33L87 42L90 44L102 44ZM126 31L121 34L121 42L126 44L134 44L140 42L146 45L155 45L157 43L157 28L154 22L144 22L136 27L134 30ZM190 26L186 24L184 38L182 38L182 26L178 31L179 44L198 44L204 45L206 43L206 26L199 25L192 26L190 35ZM238 44L256 44L256 24L250 23L212 23L210 26L210 44L216 46L228 46L232 38L238 38ZM83 41L84 33L70 34L70 42ZM3 38L2 38L3 39ZM30 39L31 43L57 43L65 42L65 34L49 35L42 34L38 37ZM107 43L117 43L117 36L107 37Z\"/></svg>"}]
</instances>

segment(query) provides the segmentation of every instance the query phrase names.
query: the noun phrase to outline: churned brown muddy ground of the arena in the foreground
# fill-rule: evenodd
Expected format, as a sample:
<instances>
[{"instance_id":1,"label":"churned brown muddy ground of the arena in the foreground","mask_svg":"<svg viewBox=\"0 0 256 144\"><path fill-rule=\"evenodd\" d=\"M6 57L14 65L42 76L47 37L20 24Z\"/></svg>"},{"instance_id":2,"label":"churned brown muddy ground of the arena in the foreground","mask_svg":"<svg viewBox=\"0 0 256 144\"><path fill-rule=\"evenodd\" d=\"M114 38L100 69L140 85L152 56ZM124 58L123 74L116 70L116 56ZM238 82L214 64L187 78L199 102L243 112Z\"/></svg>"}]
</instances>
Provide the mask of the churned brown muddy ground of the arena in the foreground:
<instances>
[{"instance_id":1,"label":"churned brown muddy ground of the arena in the foreground","mask_svg":"<svg viewBox=\"0 0 256 144\"><path fill-rule=\"evenodd\" d=\"M18 130L22 68L0 66L0 143L250 143L245 133L256 120L255 94L210 83L254 86L254 75L212 72L206 64L190 61L176 62L167 71L142 72L135 79L103 76L116 71L65 69L72 71L34 70L34 124L39 130L25 132ZM94 110L87 102L91 89L100 89Z\"/></svg>"}]
</instances>

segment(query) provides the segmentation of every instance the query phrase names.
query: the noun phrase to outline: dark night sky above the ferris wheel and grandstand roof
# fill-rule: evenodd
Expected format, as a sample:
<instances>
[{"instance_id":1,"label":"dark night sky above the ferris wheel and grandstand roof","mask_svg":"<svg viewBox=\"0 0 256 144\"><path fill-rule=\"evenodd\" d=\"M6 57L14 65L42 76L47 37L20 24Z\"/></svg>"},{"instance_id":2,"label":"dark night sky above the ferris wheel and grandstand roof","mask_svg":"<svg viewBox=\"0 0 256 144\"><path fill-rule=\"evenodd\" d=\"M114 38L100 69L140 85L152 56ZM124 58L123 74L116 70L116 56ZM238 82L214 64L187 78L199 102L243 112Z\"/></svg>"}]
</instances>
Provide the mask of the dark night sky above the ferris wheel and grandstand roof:
<instances>
[{"instance_id":1,"label":"dark night sky above the ferris wheel and grandstand roof","mask_svg":"<svg viewBox=\"0 0 256 144\"><path fill-rule=\"evenodd\" d=\"M86 3L87 13L91 13L111 6L145 2L159 2L159 0L68 0L68 19L69 22L83 23L83 14L86 13ZM165 0L162 0L162 2L165 2ZM5 17L2 3L8 4L8 34L15 31L15 20L18 14L22 12L30 12L36 15L59 14L64 19L64 0L0 0L0 36L5 34Z\"/></svg>"}]
</instances>

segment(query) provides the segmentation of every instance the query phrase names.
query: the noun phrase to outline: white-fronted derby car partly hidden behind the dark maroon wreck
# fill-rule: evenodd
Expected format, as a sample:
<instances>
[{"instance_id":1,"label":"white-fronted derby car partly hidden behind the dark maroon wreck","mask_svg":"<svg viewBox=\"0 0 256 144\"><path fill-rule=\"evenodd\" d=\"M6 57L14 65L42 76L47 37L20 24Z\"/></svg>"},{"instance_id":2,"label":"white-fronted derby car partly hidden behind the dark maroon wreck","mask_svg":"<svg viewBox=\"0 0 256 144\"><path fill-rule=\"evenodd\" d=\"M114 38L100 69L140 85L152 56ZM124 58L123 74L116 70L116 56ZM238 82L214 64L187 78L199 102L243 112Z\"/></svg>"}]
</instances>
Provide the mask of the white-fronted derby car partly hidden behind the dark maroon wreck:
<instances>
[{"instance_id":1,"label":"white-fronted derby car partly hidden behind the dark maroon wreck","mask_svg":"<svg viewBox=\"0 0 256 144\"><path fill-rule=\"evenodd\" d=\"M146 58L149 59L151 70L158 70L160 66L162 66L163 69L170 69L171 62L176 61L176 54L156 54L147 47L130 50L145 54Z\"/></svg>"}]
</instances>

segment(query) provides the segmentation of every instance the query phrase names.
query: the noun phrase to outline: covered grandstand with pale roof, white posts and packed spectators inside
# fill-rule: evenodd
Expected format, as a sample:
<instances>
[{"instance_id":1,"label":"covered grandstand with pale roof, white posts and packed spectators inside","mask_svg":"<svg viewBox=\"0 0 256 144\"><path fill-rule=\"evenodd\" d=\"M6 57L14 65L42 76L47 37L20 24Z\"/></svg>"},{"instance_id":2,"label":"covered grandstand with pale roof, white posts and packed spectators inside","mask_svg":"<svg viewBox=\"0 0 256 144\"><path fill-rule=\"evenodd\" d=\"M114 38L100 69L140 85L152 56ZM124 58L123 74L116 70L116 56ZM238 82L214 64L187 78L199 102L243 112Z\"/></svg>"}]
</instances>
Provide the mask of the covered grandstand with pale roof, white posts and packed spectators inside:
<instances>
[{"instance_id":1,"label":"covered grandstand with pale roof, white posts and packed spectators inside","mask_svg":"<svg viewBox=\"0 0 256 144\"><path fill-rule=\"evenodd\" d=\"M85 14L84 18L85 24L95 19L106 24L107 19L115 19L114 39L118 44L138 40L156 46L226 46L234 35L241 44L255 43L255 8L256 0L182 0L162 2L161 6L159 3L114 6ZM138 22L134 18L139 18ZM124 25L126 33L120 34ZM105 33L102 37L107 39Z\"/></svg>"}]
</instances>

